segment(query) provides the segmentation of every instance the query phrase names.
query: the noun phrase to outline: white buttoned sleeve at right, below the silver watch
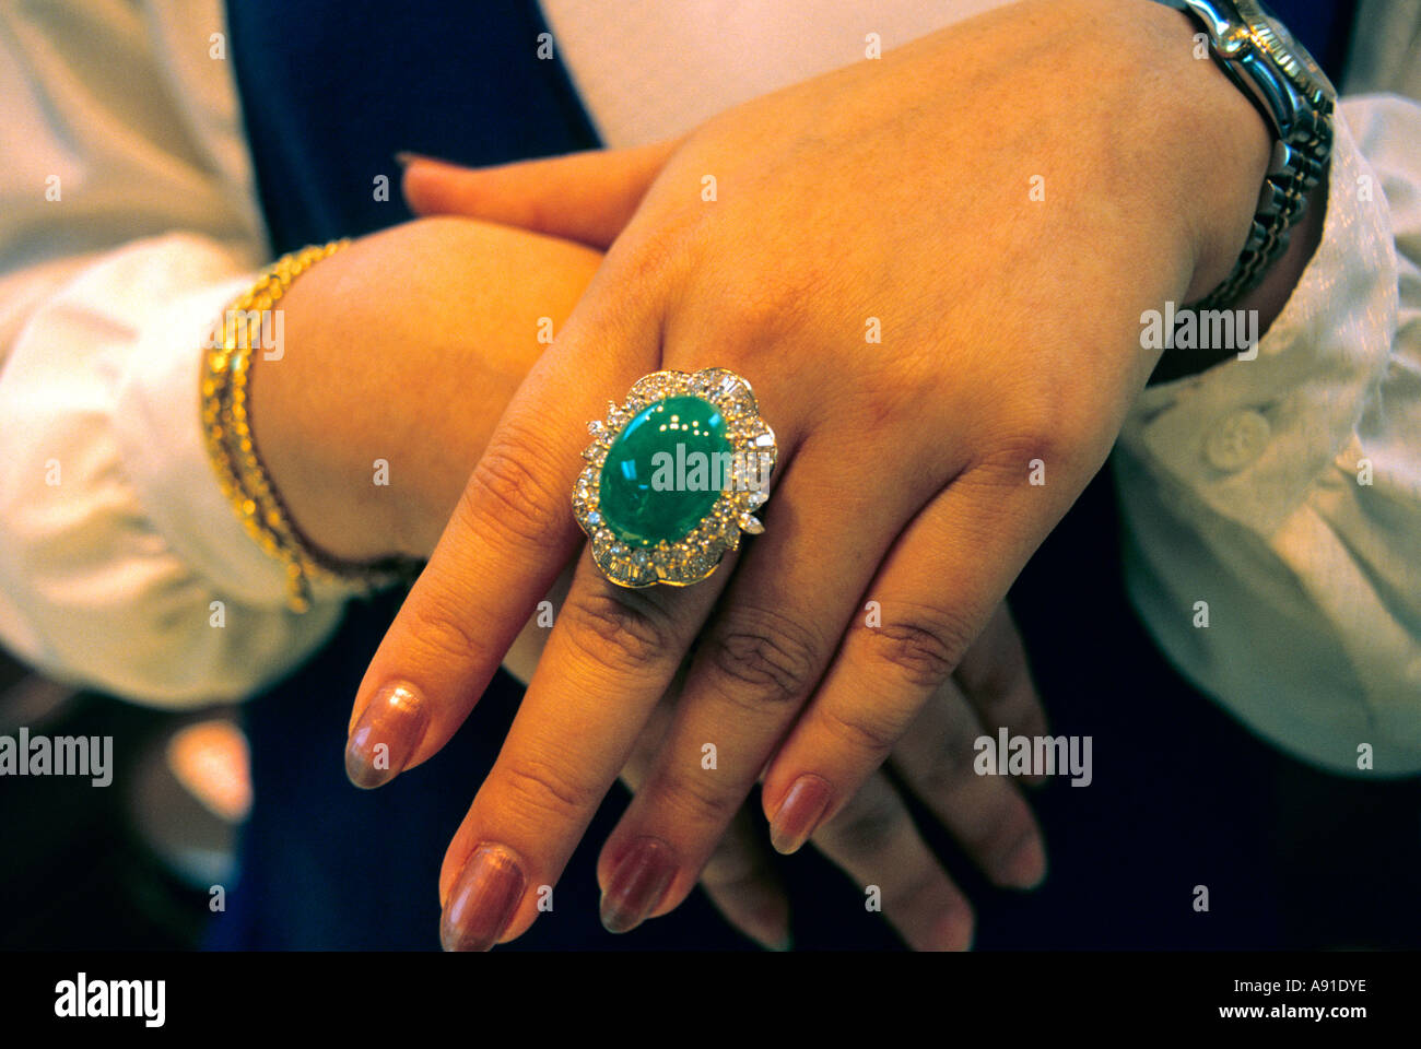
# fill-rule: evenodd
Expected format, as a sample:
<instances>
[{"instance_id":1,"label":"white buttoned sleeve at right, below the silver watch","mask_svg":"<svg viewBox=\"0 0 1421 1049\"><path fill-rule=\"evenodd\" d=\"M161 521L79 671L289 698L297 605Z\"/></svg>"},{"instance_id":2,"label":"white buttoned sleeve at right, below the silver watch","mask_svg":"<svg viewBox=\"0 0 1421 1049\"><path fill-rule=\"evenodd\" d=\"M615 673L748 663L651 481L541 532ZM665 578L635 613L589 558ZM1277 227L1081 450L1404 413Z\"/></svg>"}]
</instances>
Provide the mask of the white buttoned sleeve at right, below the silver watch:
<instances>
[{"instance_id":1,"label":"white buttoned sleeve at right, below the silver watch","mask_svg":"<svg viewBox=\"0 0 1421 1049\"><path fill-rule=\"evenodd\" d=\"M1421 105L1347 99L1322 242L1258 357L1148 388L1115 449L1127 587L1165 654L1353 775L1421 769L1418 266Z\"/></svg>"}]
</instances>

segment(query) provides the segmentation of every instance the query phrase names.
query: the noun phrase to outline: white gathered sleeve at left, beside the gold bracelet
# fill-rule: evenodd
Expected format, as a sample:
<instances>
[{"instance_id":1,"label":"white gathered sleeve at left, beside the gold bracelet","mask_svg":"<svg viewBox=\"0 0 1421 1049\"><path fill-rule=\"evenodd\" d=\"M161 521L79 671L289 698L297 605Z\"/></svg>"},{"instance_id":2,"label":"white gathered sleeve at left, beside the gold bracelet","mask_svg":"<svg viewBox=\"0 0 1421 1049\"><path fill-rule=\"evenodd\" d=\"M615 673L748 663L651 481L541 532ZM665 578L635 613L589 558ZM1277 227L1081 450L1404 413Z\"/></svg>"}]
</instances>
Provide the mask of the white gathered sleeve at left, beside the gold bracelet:
<instances>
[{"instance_id":1,"label":"white gathered sleeve at left, beside the gold bracelet","mask_svg":"<svg viewBox=\"0 0 1421 1049\"><path fill-rule=\"evenodd\" d=\"M0 7L0 641L139 702L239 698L320 645L344 593L286 611L202 439L202 345L266 254L207 51L222 9L18 11Z\"/></svg>"}]
</instances>

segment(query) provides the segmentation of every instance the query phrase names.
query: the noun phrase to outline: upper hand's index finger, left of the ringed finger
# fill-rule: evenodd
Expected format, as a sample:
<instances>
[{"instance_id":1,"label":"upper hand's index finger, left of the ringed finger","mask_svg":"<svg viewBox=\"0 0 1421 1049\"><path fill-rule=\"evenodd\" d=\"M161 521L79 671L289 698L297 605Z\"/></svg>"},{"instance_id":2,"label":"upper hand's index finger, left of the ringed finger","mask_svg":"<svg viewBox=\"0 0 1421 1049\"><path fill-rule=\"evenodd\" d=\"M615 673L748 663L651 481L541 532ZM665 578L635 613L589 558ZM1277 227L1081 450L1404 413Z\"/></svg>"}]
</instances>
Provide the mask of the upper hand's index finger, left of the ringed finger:
<instances>
[{"instance_id":1,"label":"upper hand's index finger, left of the ringed finger","mask_svg":"<svg viewBox=\"0 0 1421 1049\"><path fill-rule=\"evenodd\" d=\"M615 264L598 270L594 297L513 395L365 671L345 752L360 786L388 782L449 741L581 546L570 495L585 465L587 421L605 412L603 391L630 388L659 357L651 297L617 304L603 291L607 281L638 287ZM598 353L588 354L583 343L594 338Z\"/></svg>"}]
</instances>

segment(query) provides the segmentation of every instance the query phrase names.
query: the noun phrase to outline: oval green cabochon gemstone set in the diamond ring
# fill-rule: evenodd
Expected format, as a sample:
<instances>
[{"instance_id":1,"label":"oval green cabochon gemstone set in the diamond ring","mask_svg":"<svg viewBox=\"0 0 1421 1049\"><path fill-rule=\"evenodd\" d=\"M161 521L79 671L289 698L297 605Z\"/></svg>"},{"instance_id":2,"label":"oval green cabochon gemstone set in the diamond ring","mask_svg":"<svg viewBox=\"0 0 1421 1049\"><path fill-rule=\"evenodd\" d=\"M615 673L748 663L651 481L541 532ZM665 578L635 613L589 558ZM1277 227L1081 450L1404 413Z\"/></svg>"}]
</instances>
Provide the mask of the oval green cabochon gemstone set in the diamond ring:
<instances>
[{"instance_id":1,"label":"oval green cabochon gemstone set in the diamond ring","mask_svg":"<svg viewBox=\"0 0 1421 1049\"><path fill-rule=\"evenodd\" d=\"M628 546L675 543L732 486L720 411L699 397L668 397L632 416L603 463L603 519Z\"/></svg>"}]
</instances>

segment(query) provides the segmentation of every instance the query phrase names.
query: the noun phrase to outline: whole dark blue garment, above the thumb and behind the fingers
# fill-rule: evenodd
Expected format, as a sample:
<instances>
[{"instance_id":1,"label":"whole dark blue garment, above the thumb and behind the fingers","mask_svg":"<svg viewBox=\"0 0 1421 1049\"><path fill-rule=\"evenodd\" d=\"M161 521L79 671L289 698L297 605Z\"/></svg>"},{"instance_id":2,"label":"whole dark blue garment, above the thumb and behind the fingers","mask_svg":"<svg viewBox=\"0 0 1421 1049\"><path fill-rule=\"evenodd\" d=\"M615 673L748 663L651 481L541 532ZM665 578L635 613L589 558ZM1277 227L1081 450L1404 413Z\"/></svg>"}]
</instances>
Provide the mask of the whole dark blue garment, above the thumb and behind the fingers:
<instances>
[{"instance_id":1,"label":"whole dark blue garment, above the thumb and behind the fingers","mask_svg":"<svg viewBox=\"0 0 1421 1049\"><path fill-rule=\"evenodd\" d=\"M229 20L279 252L408 217L394 151L490 163L595 145L563 68L534 57L546 27L526 0L233 0ZM1333 54L1334 23L1296 24L1314 53ZM1309 40L1319 33L1320 47ZM372 195L381 173L391 176L389 202ZM1306 904L1290 913L1316 921L1319 908L1387 900L1391 883L1367 883L1363 873L1376 870L1367 843L1380 834L1353 849L1329 843L1339 863L1361 863L1329 870L1322 883L1309 881L1316 867L1302 864L1297 874L1297 864L1280 863L1269 833L1286 822L1283 787L1296 793L1303 783L1303 793L1323 796L1336 780L1279 756L1185 685L1130 613L1118 563L1103 475L1013 590L1056 731L1094 738L1096 782L1083 790L1054 782L1036 797L1053 873L1034 897L986 888L945 836L929 832L980 907L979 944L1312 942L1313 925L1280 920L1285 901ZM396 606L394 596L355 604L320 657L247 708L256 802L242 881L213 921L213 947L438 945L439 863L497 753L519 689L500 677L435 760L372 793L351 787L341 759L351 699ZM745 947L699 894L628 937L601 931L594 864L624 805L617 789L560 881L554 913L516 948ZM1417 863L1405 849L1395 856L1397 864ZM865 913L863 887L813 850L783 871L800 947L894 942L880 917ZM1209 886L1211 914L1191 907L1196 884ZM1327 891L1310 898L1316 884Z\"/></svg>"}]
</instances>

